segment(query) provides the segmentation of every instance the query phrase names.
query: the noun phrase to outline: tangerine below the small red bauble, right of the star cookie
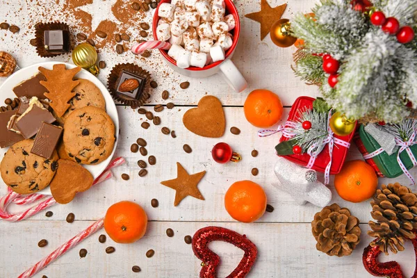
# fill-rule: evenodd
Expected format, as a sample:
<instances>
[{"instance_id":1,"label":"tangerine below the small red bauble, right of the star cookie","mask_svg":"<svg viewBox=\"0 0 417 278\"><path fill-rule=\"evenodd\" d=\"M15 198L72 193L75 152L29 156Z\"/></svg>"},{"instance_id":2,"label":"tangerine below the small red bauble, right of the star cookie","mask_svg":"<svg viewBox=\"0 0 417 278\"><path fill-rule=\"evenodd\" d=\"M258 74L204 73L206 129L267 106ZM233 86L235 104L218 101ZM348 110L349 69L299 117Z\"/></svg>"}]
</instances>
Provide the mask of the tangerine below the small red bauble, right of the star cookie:
<instances>
[{"instance_id":1,"label":"tangerine below the small red bauble, right of the star cookie","mask_svg":"<svg viewBox=\"0 0 417 278\"><path fill-rule=\"evenodd\" d=\"M265 213L265 191L253 181L236 181L224 195L224 207L235 220L254 222Z\"/></svg>"}]
</instances>

